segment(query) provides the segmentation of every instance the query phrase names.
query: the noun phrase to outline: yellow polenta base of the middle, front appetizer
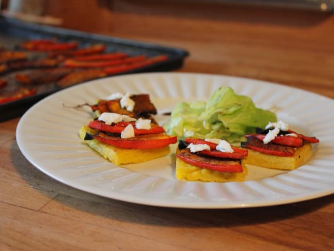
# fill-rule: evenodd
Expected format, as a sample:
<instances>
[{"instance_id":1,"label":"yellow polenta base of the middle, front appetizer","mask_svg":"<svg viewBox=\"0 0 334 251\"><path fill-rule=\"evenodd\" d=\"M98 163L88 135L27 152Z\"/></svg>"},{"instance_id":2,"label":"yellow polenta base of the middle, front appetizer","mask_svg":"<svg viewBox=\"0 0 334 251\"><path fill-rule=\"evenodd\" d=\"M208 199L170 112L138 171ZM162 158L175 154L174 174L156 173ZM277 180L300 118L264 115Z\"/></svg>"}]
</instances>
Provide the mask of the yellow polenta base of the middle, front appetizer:
<instances>
[{"instance_id":1,"label":"yellow polenta base of the middle, front appetizer","mask_svg":"<svg viewBox=\"0 0 334 251\"><path fill-rule=\"evenodd\" d=\"M247 173L248 169L244 165L242 173L216 172L206 168L195 167L176 157L175 176L181 181L243 182Z\"/></svg>"}]
</instances>

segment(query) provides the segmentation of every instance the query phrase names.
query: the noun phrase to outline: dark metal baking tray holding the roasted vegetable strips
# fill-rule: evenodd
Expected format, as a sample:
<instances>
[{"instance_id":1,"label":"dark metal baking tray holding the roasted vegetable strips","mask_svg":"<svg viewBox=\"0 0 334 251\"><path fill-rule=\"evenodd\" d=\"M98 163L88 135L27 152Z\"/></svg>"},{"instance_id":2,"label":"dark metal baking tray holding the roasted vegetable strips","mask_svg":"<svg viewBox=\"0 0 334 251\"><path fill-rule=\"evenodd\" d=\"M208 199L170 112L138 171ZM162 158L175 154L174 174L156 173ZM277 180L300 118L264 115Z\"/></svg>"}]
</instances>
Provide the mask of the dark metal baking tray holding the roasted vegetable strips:
<instances>
[{"instance_id":1,"label":"dark metal baking tray holding the roasted vegetable strips","mask_svg":"<svg viewBox=\"0 0 334 251\"><path fill-rule=\"evenodd\" d=\"M76 41L79 43L79 48L92 44L104 44L106 46L106 52L123 51L128 53L129 56L142 54L147 55L148 57L154 57L161 54L168 56L166 61L126 71L122 74L171 71L180 68L183 65L184 59L189 56L187 50L180 48L166 47L152 43L109 37L106 35L54 26L26 23L10 17L0 16L0 45L6 49L15 49L18 44L24 41L38 39L57 39L62 42ZM0 104L0 121L21 116L36 101L62 89L52 83L36 86L36 88L38 88L38 91L33 96Z\"/></svg>"}]
</instances>

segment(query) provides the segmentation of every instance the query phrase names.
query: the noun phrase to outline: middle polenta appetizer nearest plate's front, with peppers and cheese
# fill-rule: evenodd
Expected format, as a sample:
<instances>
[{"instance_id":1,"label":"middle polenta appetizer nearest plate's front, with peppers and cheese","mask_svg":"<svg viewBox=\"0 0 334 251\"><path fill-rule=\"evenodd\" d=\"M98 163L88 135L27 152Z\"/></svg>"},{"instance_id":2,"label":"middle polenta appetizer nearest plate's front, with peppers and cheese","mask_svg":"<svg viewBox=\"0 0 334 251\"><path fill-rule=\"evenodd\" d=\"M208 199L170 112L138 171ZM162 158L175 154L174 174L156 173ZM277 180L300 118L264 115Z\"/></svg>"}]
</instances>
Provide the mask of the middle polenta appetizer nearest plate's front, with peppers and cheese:
<instances>
[{"instance_id":1,"label":"middle polenta appetizer nearest plate's front, with peppers and cheese","mask_svg":"<svg viewBox=\"0 0 334 251\"><path fill-rule=\"evenodd\" d=\"M248 151L222 139L185 138L179 141L175 155L178 180L242 182L248 172L242 161Z\"/></svg>"}]
</instances>

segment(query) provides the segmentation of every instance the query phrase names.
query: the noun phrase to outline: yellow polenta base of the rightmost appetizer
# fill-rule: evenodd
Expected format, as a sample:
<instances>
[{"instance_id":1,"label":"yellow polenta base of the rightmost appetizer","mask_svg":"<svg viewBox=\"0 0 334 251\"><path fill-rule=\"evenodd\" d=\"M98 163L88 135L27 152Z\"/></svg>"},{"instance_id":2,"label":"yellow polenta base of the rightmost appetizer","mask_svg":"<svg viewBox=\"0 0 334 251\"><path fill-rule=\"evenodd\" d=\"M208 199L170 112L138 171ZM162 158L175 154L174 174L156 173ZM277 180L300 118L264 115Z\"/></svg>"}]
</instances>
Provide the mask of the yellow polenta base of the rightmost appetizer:
<instances>
[{"instance_id":1,"label":"yellow polenta base of the rightmost appetizer","mask_svg":"<svg viewBox=\"0 0 334 251\"><path fill-rule=\"evenodd\" d=\"M243 164L253 166L293 170L304 165L311 155L311 144L305 144L303 147L296 149L291 157L273 156L248 149L247 158L243 159Z\"/></svg>"}]
</instances>

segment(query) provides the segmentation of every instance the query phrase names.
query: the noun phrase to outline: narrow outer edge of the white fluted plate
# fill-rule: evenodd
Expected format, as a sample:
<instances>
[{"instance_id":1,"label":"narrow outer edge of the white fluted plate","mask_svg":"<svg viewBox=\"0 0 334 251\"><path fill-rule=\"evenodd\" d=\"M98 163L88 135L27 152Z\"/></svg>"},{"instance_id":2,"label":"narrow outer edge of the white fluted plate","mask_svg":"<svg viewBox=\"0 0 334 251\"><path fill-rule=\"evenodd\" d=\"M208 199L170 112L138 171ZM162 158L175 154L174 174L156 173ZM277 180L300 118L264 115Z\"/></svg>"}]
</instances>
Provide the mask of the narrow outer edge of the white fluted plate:
<instances>
[{"instance_id":1,"label":"narrow outer edge of the white fluted plate","mask_svg":"<svg viewBox=\"0 0 334 251\"><path fill-rule=\"evenodd\" d=\"M65 89L62 89L61 91L54 93L44 99L42 99L41 101L39 101L38 103L34 104L32 107L30 107L30 109L21 117L20 121L17 124L17 128L16 128L16 141L17 141L17 145L20 149L20 151L23 153L23 155L28 159L28 161L37 169L39 169L40 171L42 171L43 173L45 173L46 175L50 176L51 178L53 178L54 180L57 180L60 183L63 183L65 185L68 185L70 187L91 193L91 194L96 194L99 196L103 196L109 199L115 199L115 200L119 200L119 201L124 201L124 202L130 202L130 203L136 203L136 204L142 204L142 205L150 205L150 206L162 206L162 207L174 207L174 208L198 208L198 209L226 209L226 208L248 208L248 207L262 207L262 206L274 206L274 205L282 205L282 204L288 204L288 203L294 203L294 202L300 202L300 201L306 201L306 200L311 200L311 199L316 199L316 198L320 198L322 196L326 196L329 194L334 193L334 186L331 189L318 189L318 190L314 190L313 193L309 193L307 195L301 196L300 194L296 194L295 196L289 196L289 198L285 198L285 199L281 199L281 200L267 200L266 202L263 201L259 201L257 203L235 203L235 202L229 202L229 203L217 203L217 202L205 202L205 203L195 203L195 202L191 202L191 203L180 203L180 202L174 202L174 201L165 201L164 199L138 199L138 196L136 195L128 195L124 198L122 195L123 193L120 192L114 192L113 196L101 193L99 191L97 191L97 189L91 186L78 186L78 185L73 185L67 181L62 180L61 178L59 178L57 175L54 175L52 173L49 173L47 170L45 170L45 168L40 167L38 164L35 163L34 159L31 159L29 154L26 152L26 149L24 149L22 147L22 138L20 135L20 131L22 130L22 127L24 126L24 121L28 118L29 114L34 111L35 107L38 107L41 103L43 102L47 102L47 100L53 99L54 97L57 97L57 95L62 95L62 93L64 92L69 92L68 89L73 89L73 88L81 88L81 86L85 86L85 85L90 85L90 84L94 84L94 82L97 81L107 81L109 79L113 79L115 80L116 78L133 78L133 77L137 77L139 75L150 75L150 76L185 76L185 77L193 77L193 76L204 76L204 77L218 77L218 78L226 78L229 80L245 80L245 81L255 81L255 82L262 82L262 84L269 84L269 85L275 85L277 87L282 87L282 88L288 88L288 89L295 89L298 92L305 92L308 93L309 95L315 95L318 96L319 98L325 98L328 99L329 101L333 102L332 99L320 95L320 94L316 94L316 93L312 93L309 91L306 91L304 89L299 89L293 86L286 86L286 85L282 85L279 83L273 83L273 82L268 82L268 81L263 81L263 80L256 80L256 79L249 79L249 78L244 78L244 77L234 77L234 76L225 76L225 75L216 75L216 74L201 74L201 73L138 73L138 74L129 74L129 75L124 75L124 76L112 76L112 77L107 77L107 78L103 78L103 79L99 79L99 80L92 80L92 81L88 81L76 86L71 86ZM100 156L98 156L100 157ZM179 182L179 181L178 181ZM332 185L332 184L331 184Z\"/></svg>"}]
</instances>

